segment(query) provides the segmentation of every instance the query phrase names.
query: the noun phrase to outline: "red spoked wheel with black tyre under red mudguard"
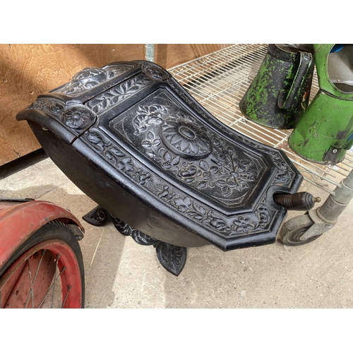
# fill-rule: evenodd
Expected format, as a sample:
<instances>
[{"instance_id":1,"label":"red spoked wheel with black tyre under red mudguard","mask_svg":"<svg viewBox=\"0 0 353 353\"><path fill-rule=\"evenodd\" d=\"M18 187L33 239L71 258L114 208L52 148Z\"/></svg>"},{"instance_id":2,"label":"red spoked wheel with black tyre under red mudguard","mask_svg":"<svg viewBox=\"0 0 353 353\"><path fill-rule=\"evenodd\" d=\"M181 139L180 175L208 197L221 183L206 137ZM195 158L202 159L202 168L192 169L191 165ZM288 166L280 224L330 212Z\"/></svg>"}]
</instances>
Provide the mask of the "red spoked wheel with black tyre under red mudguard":
<instances>
[{"instance_id":1,"label":"red spoked wheel with black tyre under red mudguard","mask_svg":"<svg viewBox=\"0 0 353 353\"><path fill-rule=\"evenodd\" d=\"M0 269L1 308L83 308L82 253L71 229L52 221Z\"/></svg>"}]
</instances>

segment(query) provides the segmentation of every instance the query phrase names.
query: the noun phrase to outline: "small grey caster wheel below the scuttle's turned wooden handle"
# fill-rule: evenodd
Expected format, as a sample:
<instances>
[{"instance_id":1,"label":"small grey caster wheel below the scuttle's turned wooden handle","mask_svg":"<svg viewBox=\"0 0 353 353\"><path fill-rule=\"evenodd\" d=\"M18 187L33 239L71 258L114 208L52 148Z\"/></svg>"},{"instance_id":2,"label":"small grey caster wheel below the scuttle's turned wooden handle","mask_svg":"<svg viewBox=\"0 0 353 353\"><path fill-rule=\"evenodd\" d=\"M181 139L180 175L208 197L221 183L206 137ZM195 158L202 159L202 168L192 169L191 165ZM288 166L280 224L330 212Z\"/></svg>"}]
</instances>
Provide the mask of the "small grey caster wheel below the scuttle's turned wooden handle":
<instances>
[{"instance_id":1,"label":"small grey caster wheel below the scuttle's turned wooden handle","mask_svg":"<svg viewBox=\"0 0 353 353\"><path fill-rule=\"evenodd\" d=\"M287 246L298 246L308 244L318 239L322 234L313 235L309 239L302 239L304 233L313 225L313 220L308 214L294 217L283 225L278 240Z\"/></svg>"}]
</instances>

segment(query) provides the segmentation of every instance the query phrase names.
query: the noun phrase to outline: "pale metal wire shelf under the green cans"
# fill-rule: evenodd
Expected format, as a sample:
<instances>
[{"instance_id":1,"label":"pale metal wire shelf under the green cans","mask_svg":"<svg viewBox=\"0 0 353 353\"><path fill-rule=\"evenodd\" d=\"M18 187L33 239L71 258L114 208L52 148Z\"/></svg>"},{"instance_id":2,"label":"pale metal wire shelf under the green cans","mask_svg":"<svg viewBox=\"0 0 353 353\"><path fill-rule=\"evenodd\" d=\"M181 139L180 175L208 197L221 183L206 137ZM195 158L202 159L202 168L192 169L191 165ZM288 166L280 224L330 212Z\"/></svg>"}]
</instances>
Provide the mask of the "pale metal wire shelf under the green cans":
<instances>
[{"instance_id":1,"label":"pale metal wire shelf under the green cans","mask_svg":"<svg viewBox=\"0 0 353 353\"><path fill-rule=\"evenodd\" d=\"M172 76L205 109L234 130L265 145L284 150L309 183L333 193L340 180L353 168L353 152L336 165L321 165L306 161L288 146L291 130L267 128L244 118L239 102L258 72L267 52L267 44L234 44L212 54L170 68ZM318 92L316 72L310 101Z\"/></svg>"}]
</instances>

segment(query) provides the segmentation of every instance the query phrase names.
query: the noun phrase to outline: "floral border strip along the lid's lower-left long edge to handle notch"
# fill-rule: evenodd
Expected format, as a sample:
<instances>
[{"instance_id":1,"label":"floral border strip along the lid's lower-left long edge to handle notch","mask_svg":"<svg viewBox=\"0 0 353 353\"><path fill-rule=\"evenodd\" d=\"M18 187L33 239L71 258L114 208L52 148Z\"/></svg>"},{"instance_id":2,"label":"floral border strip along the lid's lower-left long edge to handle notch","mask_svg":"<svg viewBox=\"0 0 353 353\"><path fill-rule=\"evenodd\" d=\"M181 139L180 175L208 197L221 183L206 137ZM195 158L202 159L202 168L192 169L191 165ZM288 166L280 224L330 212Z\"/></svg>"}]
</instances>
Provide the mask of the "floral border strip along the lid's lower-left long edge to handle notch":
<instances>
[{"instance_id":1,"label":"floral border strip along the lid's lower-left long edge to handle notch","mask_svg":"<svg viewBox=\"0 0 353 353\"><path fill-rule=\"evenodd\" d=\"M121 150L114 143L102 136L97 129L91 129L83 136L100 154L110 163L114 164L120 172L130 177L146 191L155 195L160 201L168 204L179 213L184 214L194 222L201 223L204 227L217 232L220 236L239 237L250 232L260 232L268 227L271 215L266 205L265 198L255 213L240 217L224 217L208 205L195 201L184 191L167 184L157 174L148 172L142 164Z\"/></svg>"}]
</instances>

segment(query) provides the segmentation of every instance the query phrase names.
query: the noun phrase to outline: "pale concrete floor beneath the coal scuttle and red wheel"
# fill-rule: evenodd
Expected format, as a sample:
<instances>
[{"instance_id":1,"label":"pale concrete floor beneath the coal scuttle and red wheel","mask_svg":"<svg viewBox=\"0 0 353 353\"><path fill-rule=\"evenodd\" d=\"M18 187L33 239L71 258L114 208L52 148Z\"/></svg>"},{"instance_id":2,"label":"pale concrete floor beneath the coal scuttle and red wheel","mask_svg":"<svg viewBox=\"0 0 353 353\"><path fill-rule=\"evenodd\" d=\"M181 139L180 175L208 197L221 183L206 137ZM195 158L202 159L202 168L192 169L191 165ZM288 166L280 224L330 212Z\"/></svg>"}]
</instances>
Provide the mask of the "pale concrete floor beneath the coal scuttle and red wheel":
<instances>
[{"instance_id":1,"label":"pale concrete floor beneath the coal scuttle and red wheel","mask_svg":"<svg viewBox=\"0 0 353 353\"><path fill-rule=\"evenodd\" d=\"M323 201L328 196L306 183L301 190ZM0 194L52 201L79 219L96 205L42 150L0 167ZM352 210L351 203L333 229L304 246L187 249L179 277L162 268L152 246L136 244L112 223L93 227L82 220L85 307L352 308Z\"/></svg>"}]
</instances>

